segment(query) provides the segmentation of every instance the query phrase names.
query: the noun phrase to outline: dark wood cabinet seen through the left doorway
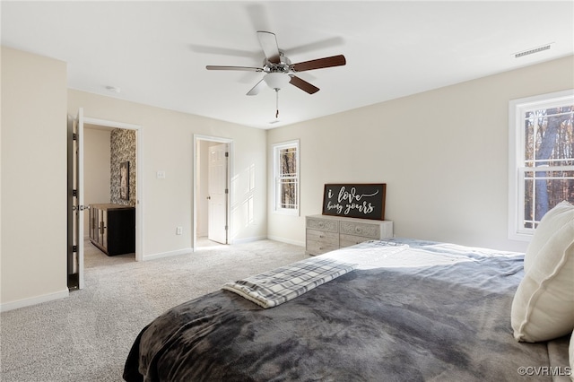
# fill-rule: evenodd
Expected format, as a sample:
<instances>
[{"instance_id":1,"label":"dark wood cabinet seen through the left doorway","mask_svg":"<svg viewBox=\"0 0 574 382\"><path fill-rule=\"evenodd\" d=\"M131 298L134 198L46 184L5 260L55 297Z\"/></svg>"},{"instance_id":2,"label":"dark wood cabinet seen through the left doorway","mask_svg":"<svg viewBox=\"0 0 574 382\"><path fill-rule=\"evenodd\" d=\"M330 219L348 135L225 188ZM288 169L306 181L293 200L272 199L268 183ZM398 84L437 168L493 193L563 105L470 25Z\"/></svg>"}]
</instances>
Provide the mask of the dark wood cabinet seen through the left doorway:
<instances>
[{"instance_id":1,"label":"dark wood cabinet seen through the left doorway","mask_svg":"<svg viewBox=\"0 0 574 382\"><path fill-rule=\"evenodd\" d=\"M135 252L135 207L90 204L90 241L108 256Z\"/></svg>"}]
</instances>

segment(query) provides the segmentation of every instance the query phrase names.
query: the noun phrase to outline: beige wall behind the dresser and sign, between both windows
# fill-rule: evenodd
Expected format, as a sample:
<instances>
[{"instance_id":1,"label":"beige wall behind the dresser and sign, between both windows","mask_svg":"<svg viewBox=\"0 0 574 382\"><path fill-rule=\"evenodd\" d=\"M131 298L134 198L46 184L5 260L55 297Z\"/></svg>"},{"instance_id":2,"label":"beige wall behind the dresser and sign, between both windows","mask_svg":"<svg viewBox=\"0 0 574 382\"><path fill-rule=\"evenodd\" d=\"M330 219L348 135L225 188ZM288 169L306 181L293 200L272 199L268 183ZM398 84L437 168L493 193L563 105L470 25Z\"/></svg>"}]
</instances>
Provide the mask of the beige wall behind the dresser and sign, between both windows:
<instances>
[{"instance_id":1,"label":"beige wall behind the dresser and sign, between both windows","mask_svg":"<svg viewBox=\"0 0 574 382\"><path fill-rule=\"evenodd\" d=\"M509 100L574 87L573 57L269 131L300 139L300 217L273 213L268 236L305 241L325 183L387 183L398 237L523 251L507 239ZM272 172L269 169L271 195Z\"/></svg>"}]
</instances>

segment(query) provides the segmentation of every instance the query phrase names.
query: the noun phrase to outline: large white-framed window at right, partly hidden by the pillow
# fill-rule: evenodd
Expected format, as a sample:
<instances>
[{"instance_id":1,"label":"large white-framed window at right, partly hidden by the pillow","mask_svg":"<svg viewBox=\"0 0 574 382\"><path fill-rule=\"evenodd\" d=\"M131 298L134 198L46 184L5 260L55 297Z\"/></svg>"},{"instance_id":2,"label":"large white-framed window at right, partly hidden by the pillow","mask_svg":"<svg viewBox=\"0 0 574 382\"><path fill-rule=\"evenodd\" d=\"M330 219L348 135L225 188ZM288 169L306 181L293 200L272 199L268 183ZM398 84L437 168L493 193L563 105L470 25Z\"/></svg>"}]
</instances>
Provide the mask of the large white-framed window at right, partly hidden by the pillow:
<instances>
[{"instance_id":1,"label":"large white-framed window at right, partly hidden by the pillow","mask_svg":"<svg viewBox=\"0 0 574 382\"><path fill-rule=\"evenodd\" d=\"M574 203L574 91L509 103L509 239L529 239L562 200Z\"/></svg>"}]
</instances>

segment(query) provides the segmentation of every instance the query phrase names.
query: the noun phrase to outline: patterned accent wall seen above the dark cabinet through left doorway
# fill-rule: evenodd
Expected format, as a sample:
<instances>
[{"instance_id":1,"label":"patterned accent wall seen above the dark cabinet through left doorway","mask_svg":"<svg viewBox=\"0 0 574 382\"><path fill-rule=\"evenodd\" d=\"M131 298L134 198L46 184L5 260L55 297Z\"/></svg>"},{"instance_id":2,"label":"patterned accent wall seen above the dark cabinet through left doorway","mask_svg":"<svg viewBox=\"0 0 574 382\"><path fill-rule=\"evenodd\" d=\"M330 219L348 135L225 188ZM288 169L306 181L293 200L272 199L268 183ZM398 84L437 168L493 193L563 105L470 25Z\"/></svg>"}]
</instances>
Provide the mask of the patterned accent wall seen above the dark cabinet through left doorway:
<instances>
[{"instance_id":1,"label":"patterned accent wall seen above the dark cabinet through left doorway","mask_svg":"<svg viewBox=\"0 0 574 382\"><path fill-rule=\"evenodd\" d=\"M127 130L116 128L110 134L110 195L111 203L125 204L135 207L135 130ZM122 198L121 178L122 178L122 163L129 161L129 200ZM124 173L124 177L126 173ZM124 184L126 190L127 184Z\"/></svg>"}]
</instances>

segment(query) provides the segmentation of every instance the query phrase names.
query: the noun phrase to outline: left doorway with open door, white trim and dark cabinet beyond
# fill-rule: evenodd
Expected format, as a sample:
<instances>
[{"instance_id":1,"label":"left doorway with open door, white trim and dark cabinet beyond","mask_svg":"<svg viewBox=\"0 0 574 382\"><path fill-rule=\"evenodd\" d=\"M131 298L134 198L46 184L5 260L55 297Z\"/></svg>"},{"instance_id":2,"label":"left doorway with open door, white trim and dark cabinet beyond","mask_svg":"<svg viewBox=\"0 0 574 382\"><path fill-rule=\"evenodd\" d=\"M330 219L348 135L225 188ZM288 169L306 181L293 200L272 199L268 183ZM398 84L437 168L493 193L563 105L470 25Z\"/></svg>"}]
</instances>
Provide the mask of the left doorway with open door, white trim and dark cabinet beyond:
<instances>
[{"instance_id":1,"label":"left doorway with open door, white trim and dark cabinet beyond","mask_svg":"<svg viewBox=\"0 0 574 382\"><path fill-rule=\"evenodd\" d=\"M92 227L93 217L90 204L100 204L100 206L123 204L135 212L135 248L130 248L132 254L129 257L131 257L130 261L143 260L142 182L139 180L143 174L141 155L139 155L142 137L140 126L83 117L83 109L80 109L78 116L72 119L75 121L73 124L75 126L73 156L77 158L77 161L74 160L77 165L68 164L68 178L74 178L74 200L71 201L73 205L70 208L74 213L71 213L73 218L68 220L68 240L74 241L68 246L68 288L83 289L84 267L91 264L90 262L84 263L84 256L86 252L88 256L94 254L91 245L86 245L88 250L84 251L84 243L91 244L91 234L98 231ZM129 136L133 137L131 141L126 138ZM91 147L92 144L95 147ZM129 147L124 147L126 145ZM126 151L130 152L129 157L126 157ZM128 166L131 168L129 172L126 170ZM102 222L104 222L104 228L108 228L109 224ZM73 235L70 234L71 231L74 231ZM108 249L112 254L110 243L108 243ZM97 252L95 254L98 256ZM111 260L110 265L117 263L117 259L112 260L112 257L108 258L102 252L100 264L106 264L101 263L105 260Z\"/></svg>"}]
</instances>

